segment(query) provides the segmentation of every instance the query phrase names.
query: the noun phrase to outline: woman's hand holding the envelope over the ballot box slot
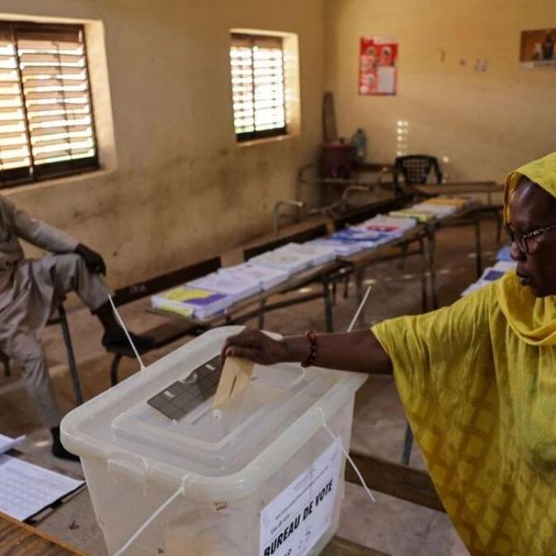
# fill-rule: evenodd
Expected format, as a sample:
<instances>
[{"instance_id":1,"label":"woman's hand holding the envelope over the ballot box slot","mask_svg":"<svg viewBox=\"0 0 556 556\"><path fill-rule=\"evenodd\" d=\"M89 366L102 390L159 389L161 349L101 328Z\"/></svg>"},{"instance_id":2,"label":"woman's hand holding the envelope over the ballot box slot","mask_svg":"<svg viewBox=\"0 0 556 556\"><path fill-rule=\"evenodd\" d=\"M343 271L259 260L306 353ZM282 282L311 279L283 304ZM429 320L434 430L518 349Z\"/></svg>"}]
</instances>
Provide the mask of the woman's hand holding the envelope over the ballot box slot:
<instances>
[{"instance_id":1,"label":"woman's hand holding the envelope over the ballot box slot","mask_svg":"<svg viewBox=\"0 0 556 556\"><path fill-rule=\"evenodd\" d=\"M285 340L274 340L260 330L246 328L226 340L222 347L221 359L223 363L230 355L262 365L273 365L287 361L287 354L288 344Z\"/></svg>"}]
</instances>

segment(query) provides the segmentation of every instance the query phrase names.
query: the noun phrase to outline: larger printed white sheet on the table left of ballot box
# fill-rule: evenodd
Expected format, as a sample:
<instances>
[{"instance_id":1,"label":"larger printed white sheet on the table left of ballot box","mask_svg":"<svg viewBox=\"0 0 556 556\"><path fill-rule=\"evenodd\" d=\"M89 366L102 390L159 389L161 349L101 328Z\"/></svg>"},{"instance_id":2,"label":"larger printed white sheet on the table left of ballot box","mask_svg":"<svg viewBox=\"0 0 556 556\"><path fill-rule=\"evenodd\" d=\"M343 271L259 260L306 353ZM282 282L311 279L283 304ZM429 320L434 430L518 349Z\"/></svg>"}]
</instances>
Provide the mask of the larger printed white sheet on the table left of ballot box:
<instances>
[{"instance_id":1,"label":"larger printed white sheet on the table left of ballot box","mask_svg":"<svg viewBox=\"0 0 556 556\"><path fill-rule=\"evenodd\" d=\"M83 483L17 457L0 456L0 511L23 521Z\"/></svg>"}]
</instances>

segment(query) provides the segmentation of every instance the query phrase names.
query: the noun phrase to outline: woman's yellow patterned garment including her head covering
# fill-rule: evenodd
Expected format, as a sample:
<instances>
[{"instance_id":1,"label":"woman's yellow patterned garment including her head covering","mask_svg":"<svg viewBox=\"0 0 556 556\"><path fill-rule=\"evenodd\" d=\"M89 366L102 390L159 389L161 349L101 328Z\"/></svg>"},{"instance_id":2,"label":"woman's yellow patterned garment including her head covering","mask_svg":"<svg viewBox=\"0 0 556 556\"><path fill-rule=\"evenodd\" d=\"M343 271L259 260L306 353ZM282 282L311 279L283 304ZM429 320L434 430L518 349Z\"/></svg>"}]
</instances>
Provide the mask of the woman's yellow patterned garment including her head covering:
<instances>
[{"instance_id":1,"label":"woman's yellow patterned garment including her head covering","mask_svg":"<svg viewBox=\"0 0 556 556\"><path fill-rule=\"evenodd\" d=\"M506 206L521 176L556 196L556 154L509 174ZM468 550L556 555L556 296L535 298L511 272L372 330Z\"/></svg>"}]
</instances>

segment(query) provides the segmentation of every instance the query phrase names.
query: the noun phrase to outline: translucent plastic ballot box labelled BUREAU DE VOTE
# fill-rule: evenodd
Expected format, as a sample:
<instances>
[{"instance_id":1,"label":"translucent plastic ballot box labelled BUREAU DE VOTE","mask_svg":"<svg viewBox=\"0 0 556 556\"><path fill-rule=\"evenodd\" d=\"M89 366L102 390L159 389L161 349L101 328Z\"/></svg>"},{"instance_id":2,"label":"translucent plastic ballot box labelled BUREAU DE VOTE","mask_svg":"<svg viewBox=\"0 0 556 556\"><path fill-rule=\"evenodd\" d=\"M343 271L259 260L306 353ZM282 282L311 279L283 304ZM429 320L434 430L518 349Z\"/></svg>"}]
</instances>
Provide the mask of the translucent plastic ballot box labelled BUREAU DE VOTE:
<instances>
[{"instance_id":1,"label":"translucent plastic ballot box labelled BUREAU DE VOTE","mask_svg":"<svg viewBox=\"0 0 556 556\"><path fill-rule=\"evenodd\" d=\"M222 344L241 329L195 338L62 421L110 554L153 515L123 553L304 556L334 535L365 376L255 365L213 410Z\"/></svg>"}]
</instances>

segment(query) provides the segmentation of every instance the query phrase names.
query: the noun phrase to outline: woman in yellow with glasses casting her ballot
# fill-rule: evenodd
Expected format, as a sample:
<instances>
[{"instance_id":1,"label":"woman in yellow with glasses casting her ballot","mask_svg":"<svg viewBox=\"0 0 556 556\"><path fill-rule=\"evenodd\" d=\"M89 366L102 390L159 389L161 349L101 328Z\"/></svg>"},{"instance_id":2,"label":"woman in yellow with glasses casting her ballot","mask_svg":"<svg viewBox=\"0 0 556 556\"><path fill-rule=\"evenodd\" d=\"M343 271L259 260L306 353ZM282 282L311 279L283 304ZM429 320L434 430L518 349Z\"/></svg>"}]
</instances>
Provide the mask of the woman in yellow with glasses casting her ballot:
<instances>
[{"instance_id":1,"label":"woman in yellow with glasses casting her ballot","mask_svg":"<svg viewBox=\"0 0 556 556\"><path fill-rule=\"evenodd\" d=\"M511 172L516 272L447 308L346 334L231 336L222 356L393 373L473 555L556 554L556 152Z\"/></svg>"}]
</instances>

